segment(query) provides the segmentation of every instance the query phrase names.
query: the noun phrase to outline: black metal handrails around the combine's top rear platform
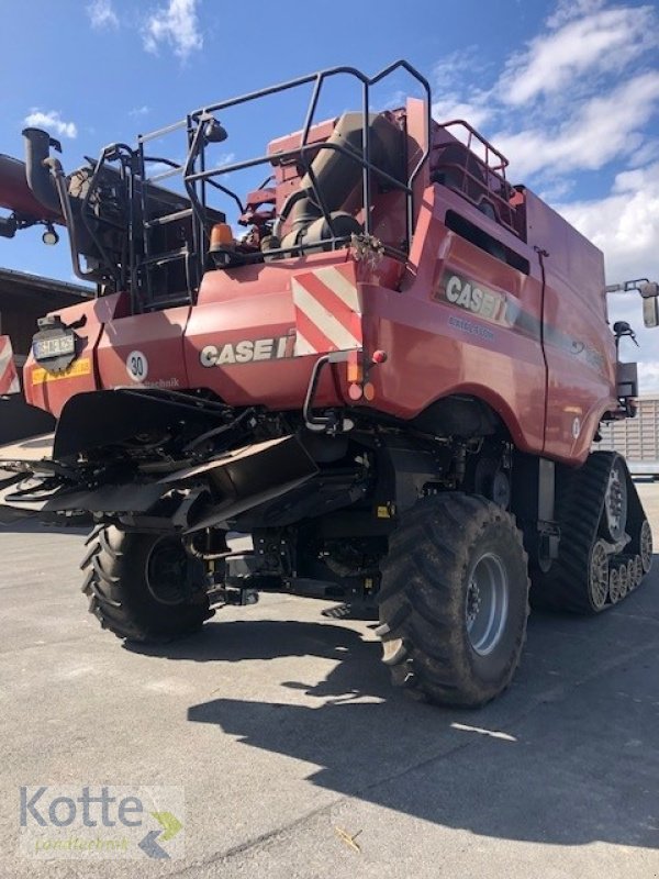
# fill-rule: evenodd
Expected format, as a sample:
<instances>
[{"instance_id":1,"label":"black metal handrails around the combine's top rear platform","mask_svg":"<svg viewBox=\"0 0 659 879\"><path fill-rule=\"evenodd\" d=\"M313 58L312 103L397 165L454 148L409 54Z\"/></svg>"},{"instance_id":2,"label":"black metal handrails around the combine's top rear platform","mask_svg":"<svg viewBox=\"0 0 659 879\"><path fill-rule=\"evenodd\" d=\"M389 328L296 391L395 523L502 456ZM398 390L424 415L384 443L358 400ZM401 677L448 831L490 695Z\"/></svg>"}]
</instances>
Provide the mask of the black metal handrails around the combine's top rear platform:
<instances>
[{"instance_id":1,"label":"black metal handrails around the combine's top rear platform","mask_svg":"<svg viewBox=\"0 0 659 879\"><path fill-rule=\"evenodd\" d=\"M425 99L426 112L425 143L422 144L422 154L412 169L406 168L404 177L401 177L401 179L392 176L388 170L383 170L382 168L378 167L372 160L371 116L375 113L375 110L371 111L370 107L371 89L388 76L400 70L407 73L421 87L423 97ZM345 145L337 143L310 142L312 129L314 124L317 123L315 116L317 113L320 99L323 93L323 88L328 79L338 76L350 77L361 86L360 103L362 119L361 148L359 151L354 148L349 149ZM249 101L255 101L277 93L290 91L291 89L300 88L306 85L311 85L312 89L309 104L304 114L300 141L295 148L282 151L281 153L277 154L277 157L287 159L294 156L309 175L309 189L311 191L308 194L310 194L312 199L317 202L319 211L327 223L327 229L331 232L328 237L314 241L314 246L317 247L319 245L326 245L332 248L336 248L338 246L345 246L349 243L349 237L346 237L345 235L337 236L335 234L331 212L328 211L327 204L324 201L323 193L320 191L320 187L312 168L313 156L317 155L321 149L332 149L342 154L350 162L355 162L361 168L361 201L364 208L365 234L369 235L371 233L371 210L373 207L371 193L372 178L377 177L378 180L384 182L389 188L395 189L402 193L405 204L406 242L402 245L401 249L387 246L386 251L387 253L395 255L399 258L406 257L414 233L414 183L424 164L428 160L431 155L432 118L429 84L425 77L418 73L418 70L416 70L405 60L393 62L372 77L366 76L366 74L356 67L337 66L314 74L309 74L306 76L297 77L295 79L280 82L275 86L269 86L264 89L258 89L245 94L217 101L215 103L206 104L205 107L189 113L183 120L179 120L178 122L166 125L156 131L141 134L137 138L136 149L129 151L129 153L125 152L127 147L125 147L123 144L115 147L107 147L102 152L99 162L93 168L90 185L83 198L82 222L88 234L94 241L94 244L101 253L102 258L105 259L109 257L103 246L103 242L100 240L98 231L94 227L94 222L90 212L90 200L92 198L92 193L94 193L98 190L98 187L101 185L102 168L108 162L119 160L121 164L119 176L124 183L125 194L129 200L129 265L126 266L122 259L121 266L112 266L109 264L108 268L112 271L112 274L115 275L115 283L123 286L130 278L133 311L138 311L144 308L148 309L154 293L152 290L150 271L148 268L146 268L146 264L152 256L150 249L154 241L152 240L150 227L145 225L145 221L149 221L150 219L148 211L149 185L154 185L165 178L174 177L175 175L181 175L186 193L192 207L191 243L190 251L186 257L186 276L190 300L194 301L194 293L199 287L201 276L205 268L208 240L211 231L210 226L212 225L212 214L209 213L211 209L206 205L206 186L212 186L215 190L223 192L225 197L233 199L234 203L241 210L241 213L244 213L244 207L241 198L230 187L220 182L217 178L220 178L222 175L231 174L232 171L239 171L256 167L258 165L271 164L273 160L272 155L263 155L258 156L257 158L246 159L243 162L233 162L220 167L206 167L205 149L208 142L205 140L205 125L209 119L212 119L214 113L219 113L228 108L238 107L241 104L248 103ZM145 153L146 144L149 144L177 131L185 133L187 138L186 158L182 163L178 160L174 162L168 158L160 158L159 155L147 155ZM160 149L154 149L153 152L159 154ZM148 177L145 166L148 163L155 162L163 163L169 167L161 174L154 175L154 177ZM142 230L139 229L141 223L143 225ZM156 227L161 225L161 223L154 223L153 225ZM292 252L300 253L303 249L304 245L301 244L294 248L291 248L290 246L287 248L273 248L267 253L268 256L290 255ZM257 254L256 252L254 255L244 254L243 256L245 262L254 262L264 258L263 254ZM145 297L144 302L138 302L141 297Z\"/></svg>"}]
</instances>

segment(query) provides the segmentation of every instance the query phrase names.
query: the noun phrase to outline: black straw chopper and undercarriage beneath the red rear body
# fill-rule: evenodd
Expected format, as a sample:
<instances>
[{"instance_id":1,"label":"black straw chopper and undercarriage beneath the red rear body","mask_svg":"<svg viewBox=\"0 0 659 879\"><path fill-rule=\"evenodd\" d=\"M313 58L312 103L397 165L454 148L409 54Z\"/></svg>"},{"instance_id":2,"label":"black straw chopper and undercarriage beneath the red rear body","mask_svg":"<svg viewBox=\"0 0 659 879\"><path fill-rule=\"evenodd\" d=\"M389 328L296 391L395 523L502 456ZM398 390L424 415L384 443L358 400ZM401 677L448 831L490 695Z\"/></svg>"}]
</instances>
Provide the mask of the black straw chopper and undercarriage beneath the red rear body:
<instances>
[{"instance_id":1,"label":"black straw chopper and undercarriage beneath the red rear body","mask_svg":"<svg viewBox=\"0 0 659 879\"><path fill-rule=\"evenodd\" d=\"M446 425L440 411L413 424L336 411L319 431L299 413L238 411L202 392L81 393L62 413L52 460L5 465L25 478L4 501L49 521L91 513L179 534L198 557L225 561L238 589L366 597L398 516L420 498L462 489L510 505L512 447L476 402L462 409ZM469 435L483 427L491 435ZM228 532L250 534L254 552L232 552Z\"/></svg>"}]
</instances>

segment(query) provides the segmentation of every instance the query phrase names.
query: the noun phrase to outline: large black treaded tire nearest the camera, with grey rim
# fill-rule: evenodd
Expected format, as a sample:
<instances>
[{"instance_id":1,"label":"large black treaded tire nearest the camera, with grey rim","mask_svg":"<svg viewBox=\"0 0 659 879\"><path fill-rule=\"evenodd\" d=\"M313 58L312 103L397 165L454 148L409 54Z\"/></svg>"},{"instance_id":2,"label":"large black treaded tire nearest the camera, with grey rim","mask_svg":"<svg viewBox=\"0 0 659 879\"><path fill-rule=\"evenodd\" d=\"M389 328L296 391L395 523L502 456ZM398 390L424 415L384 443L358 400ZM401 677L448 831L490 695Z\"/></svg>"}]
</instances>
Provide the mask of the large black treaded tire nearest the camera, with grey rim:
<instances>
[{"instance_id":1,"label":"large black treaded tire nearest the camera, with grey rim","mask_svg":"<svg viewBox=\"0 0 659 879\"><path fill-rule=\"evenodd\" d=\"M462 706L505 690L526 638L527 568L505 510L458 492L420 500L401 518L381 566L378 634L393 683ZM483 609L474 600L479 585L481 599L490 590L489 614L488 602Z\"/></svg>"}]
</instances>

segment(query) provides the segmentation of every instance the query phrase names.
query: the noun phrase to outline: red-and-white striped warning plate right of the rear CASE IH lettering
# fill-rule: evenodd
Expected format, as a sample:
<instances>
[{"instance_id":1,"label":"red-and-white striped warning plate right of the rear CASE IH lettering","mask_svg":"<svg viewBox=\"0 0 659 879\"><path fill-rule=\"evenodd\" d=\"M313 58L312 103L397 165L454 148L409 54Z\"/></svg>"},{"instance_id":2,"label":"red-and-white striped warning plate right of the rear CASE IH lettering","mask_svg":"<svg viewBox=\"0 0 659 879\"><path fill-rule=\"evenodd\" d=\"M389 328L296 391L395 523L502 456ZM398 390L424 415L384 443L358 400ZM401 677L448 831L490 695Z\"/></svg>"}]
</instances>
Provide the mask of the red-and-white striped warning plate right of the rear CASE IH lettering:
<instances>
[{"instance_id":1,"label":"red-and-white striped warning plate right of the rear CASE IH lettering","mask_svg":"<svg viewBox=\"0 0 659 879\"><path fill-rule=\"evenodd\" d=\"M351 264L295 275L295 357L362 346L361 302Z\"/></svg>"}]
</instances>

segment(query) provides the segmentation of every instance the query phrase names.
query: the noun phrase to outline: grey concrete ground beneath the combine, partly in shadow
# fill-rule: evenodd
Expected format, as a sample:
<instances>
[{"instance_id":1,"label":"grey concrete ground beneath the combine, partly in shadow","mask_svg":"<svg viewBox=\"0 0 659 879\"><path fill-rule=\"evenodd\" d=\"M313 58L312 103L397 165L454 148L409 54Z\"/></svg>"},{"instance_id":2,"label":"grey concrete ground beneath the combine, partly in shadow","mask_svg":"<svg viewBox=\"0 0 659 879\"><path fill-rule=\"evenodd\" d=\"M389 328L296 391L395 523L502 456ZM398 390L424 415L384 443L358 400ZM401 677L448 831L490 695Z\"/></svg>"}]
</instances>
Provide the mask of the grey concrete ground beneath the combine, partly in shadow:
<instances>
[{"instance_id":1,"label":"grey concrete ground beneath the combine, partly in shadow","mask_svg":"<svg viewBox=\"0 0 659 879\"><path fill-rule=\"evenodd\" d=\"M659 564L597 619L533 614L514 686L468 712L392 691L371 626L311 600L126 649L82 541L0 528L2 879L659 876ZM67 782L182 786L185 857L20 858L19 786Z\"/></svg>"}]
</instances>

